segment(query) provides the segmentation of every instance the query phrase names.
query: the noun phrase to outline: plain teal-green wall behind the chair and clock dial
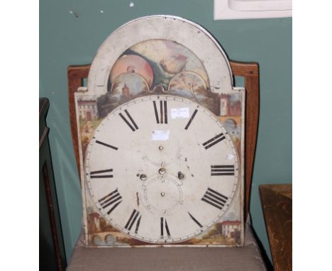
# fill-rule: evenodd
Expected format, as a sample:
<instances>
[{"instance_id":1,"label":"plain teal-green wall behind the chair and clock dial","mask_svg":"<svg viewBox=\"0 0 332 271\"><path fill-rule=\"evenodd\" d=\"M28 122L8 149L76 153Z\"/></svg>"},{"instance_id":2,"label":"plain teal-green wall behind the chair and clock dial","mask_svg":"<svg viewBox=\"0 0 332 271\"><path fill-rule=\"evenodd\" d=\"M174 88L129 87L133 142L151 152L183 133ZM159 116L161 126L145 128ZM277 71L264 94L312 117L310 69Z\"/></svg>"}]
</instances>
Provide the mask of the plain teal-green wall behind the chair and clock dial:
<instances>
[{"instance_id":1,"label":"plain teal-green wall behind the chair and clock dial","mask_svg":"<svg viewBox=\"0 0 332 271\"><path fill-rule=\"evenodd\" d=\"M67 66L91 63L112 31L133 18L153 14L199 23L232 60L260 64L260 126L250 212L253 228L270 256L258 185L292 182L292 18L214 21L213 0L132 0L132 8L130 2L40 1L40 96L50 99L47 122L67 258L82 218L70 134Z\"/></svg>"}]
</instances>

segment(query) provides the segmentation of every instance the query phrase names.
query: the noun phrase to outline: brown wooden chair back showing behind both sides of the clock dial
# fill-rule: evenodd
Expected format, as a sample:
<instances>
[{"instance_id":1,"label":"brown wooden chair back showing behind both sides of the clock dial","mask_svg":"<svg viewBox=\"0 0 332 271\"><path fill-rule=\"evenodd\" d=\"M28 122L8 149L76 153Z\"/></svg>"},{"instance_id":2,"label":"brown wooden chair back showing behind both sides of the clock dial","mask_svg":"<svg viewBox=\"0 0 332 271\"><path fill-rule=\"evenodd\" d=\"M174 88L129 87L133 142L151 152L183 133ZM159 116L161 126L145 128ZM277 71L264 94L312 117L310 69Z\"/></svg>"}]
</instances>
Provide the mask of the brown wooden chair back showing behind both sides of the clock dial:
<instances>
[{"instance_id":1,"label":"brown wooden chair back showing behind both sides of the clock dial","mask_svg":"<svg viewBox=\"0 0 332 271\"><path fill-rule=\"evenodd\" d=\"M245 218L249 212L250 189L253 177L253 163L255 160L256 140L258 133L259 114L259 69L255 62L231 61L234 76L244 77L246 90L245 103ZM75 110L74 93L83 86L83 79L89 75L91 65L70 65L68 75L68 100L70 109L70 127L72 142L79 170L79 144L77 138L77 118Z\"/></svg>"}]
</instances>

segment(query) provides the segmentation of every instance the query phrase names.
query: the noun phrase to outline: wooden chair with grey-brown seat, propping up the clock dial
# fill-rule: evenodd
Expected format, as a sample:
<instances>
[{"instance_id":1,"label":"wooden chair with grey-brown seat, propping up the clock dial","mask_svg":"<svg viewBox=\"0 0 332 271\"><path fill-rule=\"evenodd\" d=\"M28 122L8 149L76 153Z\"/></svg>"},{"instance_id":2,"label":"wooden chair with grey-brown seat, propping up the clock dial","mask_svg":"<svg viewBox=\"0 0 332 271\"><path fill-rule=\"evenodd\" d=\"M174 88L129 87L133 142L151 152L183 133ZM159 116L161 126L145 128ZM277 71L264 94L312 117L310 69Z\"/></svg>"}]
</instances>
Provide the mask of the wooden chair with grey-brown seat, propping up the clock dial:
<instances>
[{"instance_id":1,"label":"wooden chair with grey-brown seat, propping up the clock dial","mask_svg":"<svg viewBox=\"0 0 332 271\"><path fill-rule=\"evenodd\" d=\"M244 77L245 104L245 217L249 213L250 188L258 132L258 63L231 61L235 76ZM83 86L90 65L68 67L68 95L72 141L79 169L79 148L74 92ZM234 248L85 248L81 234L74 247L68 271L103 270L266 270L250 223L245 223L245 245Z\"/></svg>"}]
</instances>

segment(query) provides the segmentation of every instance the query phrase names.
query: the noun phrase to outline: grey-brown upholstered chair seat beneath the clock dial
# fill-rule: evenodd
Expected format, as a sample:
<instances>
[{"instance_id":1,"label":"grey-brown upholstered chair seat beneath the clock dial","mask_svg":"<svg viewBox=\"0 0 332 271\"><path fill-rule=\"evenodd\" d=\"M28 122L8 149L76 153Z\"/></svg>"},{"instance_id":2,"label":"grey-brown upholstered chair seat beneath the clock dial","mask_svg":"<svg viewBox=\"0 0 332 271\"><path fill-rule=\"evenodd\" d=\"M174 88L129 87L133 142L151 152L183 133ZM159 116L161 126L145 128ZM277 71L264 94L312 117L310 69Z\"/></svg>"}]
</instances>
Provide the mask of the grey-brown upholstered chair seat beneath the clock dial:
<instances>
[{"instance_id":1,"label":"grey-brown upholstered chair seat beneath the clock dial","mask_svg":"<svg viewBox=\"0 0 332 271\"><path fill-rule=\"evenodd\" d=\"M262 255L245 224L245 245L238 248L85 248L81 234L67 271L128 270L266 270Z\"/></svg>"}]
</instances>

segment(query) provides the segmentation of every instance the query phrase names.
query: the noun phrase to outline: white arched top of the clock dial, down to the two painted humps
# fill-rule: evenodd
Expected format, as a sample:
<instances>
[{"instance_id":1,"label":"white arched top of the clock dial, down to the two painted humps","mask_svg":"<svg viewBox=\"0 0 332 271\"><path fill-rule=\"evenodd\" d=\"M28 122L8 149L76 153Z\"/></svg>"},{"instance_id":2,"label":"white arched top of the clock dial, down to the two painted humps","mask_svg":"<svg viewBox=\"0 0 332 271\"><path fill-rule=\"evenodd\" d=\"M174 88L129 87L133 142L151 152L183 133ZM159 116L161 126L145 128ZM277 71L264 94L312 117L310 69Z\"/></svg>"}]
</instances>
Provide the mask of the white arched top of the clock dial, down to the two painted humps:
<instances>
[{"instance_id":1,"label":"white arched top of the clock dial, down to the two painted humps","mask_svg":"<svg viewBox=\"0 0 332 271\"><path fill-rule=\"evenodd\" d=\"M194 58L190 56L192 54ZM140 74L151 87L161 71L158 69L156 73L153 70L155 65L149 67L151 60L168 75L199 71L202 79L209 82L211 92L232 91L231 65L213 36L197 23L184 18L156 15L129 21L104 40L89 71L89 92L105 94L108 79L113 81L124 72ZM198 65L201 60L204 60L204 68ZM165 79L167 74L162 77Z\"/></svg>"}]
</instances>

